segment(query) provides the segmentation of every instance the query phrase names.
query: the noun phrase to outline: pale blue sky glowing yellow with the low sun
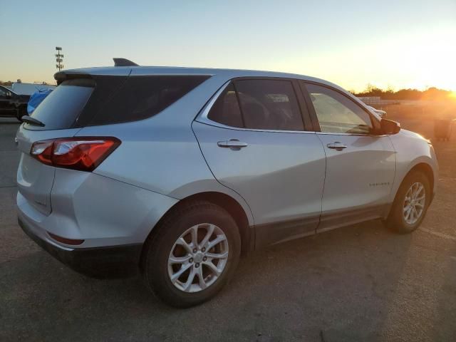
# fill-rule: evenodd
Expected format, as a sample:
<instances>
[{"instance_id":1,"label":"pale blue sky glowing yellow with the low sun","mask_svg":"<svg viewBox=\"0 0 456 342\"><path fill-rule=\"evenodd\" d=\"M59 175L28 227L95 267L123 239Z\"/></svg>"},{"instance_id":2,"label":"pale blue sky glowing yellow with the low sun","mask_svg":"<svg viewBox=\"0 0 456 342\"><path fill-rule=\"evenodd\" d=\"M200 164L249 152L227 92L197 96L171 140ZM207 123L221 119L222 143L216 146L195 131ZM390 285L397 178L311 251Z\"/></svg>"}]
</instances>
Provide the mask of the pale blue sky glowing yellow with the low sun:
<instances>
[{"instance_id":1,"label":"pale blue sky glowing yellow with the low sun","mask_svg":"<svg viewBox=\"0 0 456 342\"><path fill-rule=\"evenodd\" d=\"M0 0L0 80L53 81L65 68L249 68L347 89L456 90L456 0Z\"/></svg>"}]
</instances>

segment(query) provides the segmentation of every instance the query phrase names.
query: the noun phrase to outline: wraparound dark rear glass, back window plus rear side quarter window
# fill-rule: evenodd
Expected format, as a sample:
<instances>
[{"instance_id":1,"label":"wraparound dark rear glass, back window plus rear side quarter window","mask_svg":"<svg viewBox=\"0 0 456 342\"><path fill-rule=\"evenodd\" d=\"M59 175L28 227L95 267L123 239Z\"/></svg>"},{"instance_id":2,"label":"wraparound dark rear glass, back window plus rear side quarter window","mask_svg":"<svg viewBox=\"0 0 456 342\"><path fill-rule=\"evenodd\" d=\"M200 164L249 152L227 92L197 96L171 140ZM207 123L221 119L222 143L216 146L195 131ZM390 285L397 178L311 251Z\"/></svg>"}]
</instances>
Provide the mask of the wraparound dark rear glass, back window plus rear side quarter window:
<instances>
[{"instance_id":1,"label":"wraparound dark rear glass, back window plus rear side quarter window","mask_svg":"<svg viewBox=\"0 0 456 342\"><path fill-rule=\"evenodd\" d=\"M150 118L182 98L209 76L94 76L64 81L31 117L58 130Z\"/></svg>"}]
</instances>

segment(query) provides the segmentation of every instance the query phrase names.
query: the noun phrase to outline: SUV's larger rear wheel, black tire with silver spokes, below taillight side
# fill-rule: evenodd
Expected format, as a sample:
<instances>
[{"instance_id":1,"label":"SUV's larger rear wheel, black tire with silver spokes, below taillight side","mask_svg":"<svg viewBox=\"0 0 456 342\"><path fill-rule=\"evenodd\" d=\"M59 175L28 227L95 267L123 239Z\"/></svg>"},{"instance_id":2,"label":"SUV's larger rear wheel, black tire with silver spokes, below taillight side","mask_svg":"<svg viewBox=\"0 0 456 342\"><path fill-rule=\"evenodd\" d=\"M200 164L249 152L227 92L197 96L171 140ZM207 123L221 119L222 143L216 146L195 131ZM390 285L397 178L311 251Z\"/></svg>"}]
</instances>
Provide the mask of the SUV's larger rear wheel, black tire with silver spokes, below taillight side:
<instances>
[{"instance_id":1,"label":"SUV's larger rear wheel, black tire with silver spokes, below taillight side","mask_svg":"<svg viewBox=\"0 0 456 342\"><path fill-rule=\"evenodd\" d=\"M214 227L214 233L209 236L205 246L209 248L210 243L214 243L216 238L223 239L224 236L226 240L204 251L202 243L207 238L211 227ZM190 233L182 237L182 234L187 231ZM196 254L195 244L192 242L193 231L197 232ZM181 237L185 240L186 247L182 244L182 240L177 242ZM222 256L225 252L227 252L226 258L210 257ZM239 229L227 211L210 202L189 202L166 214L147 239L142 254L142 276L145 284L159 299L171 306L187 308L211 299L227 284L237 268L240 252ZM203 260L204 256L206 259ZM175 258L172 259L173 261L178 258L186 261L170 265L171 257ZM189 257L190 259L187 259ZM208 262L215 264L217 272L222 269L221 273L217 275L217 272L209 267ZM186 267L188 267L187 271L173 282L171 277L177 276ZM192 272L196 274L194 280L190 282ZM201 280L200 276L204 280ZM207 286L205 289L204 284Z\"/></svg>"}]
</instances>

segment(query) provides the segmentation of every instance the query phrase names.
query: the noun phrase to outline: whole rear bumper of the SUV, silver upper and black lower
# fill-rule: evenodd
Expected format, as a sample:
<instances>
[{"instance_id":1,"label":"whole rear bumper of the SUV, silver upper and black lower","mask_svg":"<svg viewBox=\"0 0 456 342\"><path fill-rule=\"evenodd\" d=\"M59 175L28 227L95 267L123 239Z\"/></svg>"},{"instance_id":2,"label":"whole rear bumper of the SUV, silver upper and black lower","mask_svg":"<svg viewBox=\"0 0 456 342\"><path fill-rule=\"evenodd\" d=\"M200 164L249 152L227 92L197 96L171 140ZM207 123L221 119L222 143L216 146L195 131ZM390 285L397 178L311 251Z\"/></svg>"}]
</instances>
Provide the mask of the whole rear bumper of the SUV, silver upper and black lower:
<instances>
[{"instance_id":1,"label":"whole rear bumper of the SUV, silver upper and black lower","mask_svg":"<svg viewBox=\"0 0 456 342\"><path fill-rule=\"evenodd\" d=\"M178 200L92 172L55 172L50 212L39 210L38 196L19 186L16 204L24 232L82 274L123 278L137 273L152 227ZM83 242L66 244L51 234Z\"/></svg>"}]
</instances>

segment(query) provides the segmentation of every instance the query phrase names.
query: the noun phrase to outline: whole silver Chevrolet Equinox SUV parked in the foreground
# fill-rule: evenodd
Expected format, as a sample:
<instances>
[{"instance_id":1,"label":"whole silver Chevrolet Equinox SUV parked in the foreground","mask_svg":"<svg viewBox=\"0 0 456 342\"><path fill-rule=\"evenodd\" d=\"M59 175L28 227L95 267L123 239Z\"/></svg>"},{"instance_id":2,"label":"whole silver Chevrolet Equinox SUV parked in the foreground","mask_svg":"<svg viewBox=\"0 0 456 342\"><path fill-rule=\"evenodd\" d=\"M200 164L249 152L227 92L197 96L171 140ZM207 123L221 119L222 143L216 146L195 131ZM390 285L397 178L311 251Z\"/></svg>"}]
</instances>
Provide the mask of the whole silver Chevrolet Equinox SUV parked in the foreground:
<instances>
[{"instance_id":1,"label":"whole silver Chevrolet Equinox SUV parked in the foreground","mask_svg":"<svg viewBox=\"0 0 456 342\"><path fill-rule=\"evenodd\" d=\"M435 194L429 141L318 78L140 67L56 73L17 133L19 224L90 276L140 271L172 306L211 298L241 254L382 219Z\"/></svg>"}]
</instances>

